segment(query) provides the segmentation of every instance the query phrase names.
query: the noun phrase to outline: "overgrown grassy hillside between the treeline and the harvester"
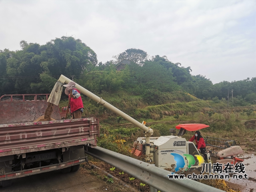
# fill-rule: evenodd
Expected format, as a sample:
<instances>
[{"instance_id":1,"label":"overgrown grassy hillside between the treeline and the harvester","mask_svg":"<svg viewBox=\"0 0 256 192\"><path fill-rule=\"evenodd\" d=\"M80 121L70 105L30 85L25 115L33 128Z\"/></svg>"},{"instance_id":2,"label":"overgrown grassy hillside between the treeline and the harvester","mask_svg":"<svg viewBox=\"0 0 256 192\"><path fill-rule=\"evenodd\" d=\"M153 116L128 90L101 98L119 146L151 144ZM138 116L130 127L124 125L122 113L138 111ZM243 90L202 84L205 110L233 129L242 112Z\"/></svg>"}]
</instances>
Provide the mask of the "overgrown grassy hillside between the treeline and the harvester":
<instances>
[{"instance_id":1,"label":"overgrown grassy hillside between the treeline and the harvester","mask_svg":"<svg viewBox=\"0 0 256 192\"><path fill-rule=\"evenodd\" d=\"M98 95L132 118L147 122L154 130L153 136L169 135L169 129L183 123L202 123L210 127L202 131L202 135L236 140L243 150L256 150L253 139L256 128L246 128L244 122L256 119L256 107L227 107L226 101L200 100L184 92L162 93L158 105L149 105L142 95L129 95L126 92ZM84 117L100 118L101 137L98 145L110 150L128 154L127 149L143 132L121 116L97 104L94 100L82 95ZM68 100L62 100L60 106L66 106ZM193 135L187 132L186 139ZM126 140L117 145L115 140ZM122 146L122 147L121 147Z\"/></svg>"}]
</instances>

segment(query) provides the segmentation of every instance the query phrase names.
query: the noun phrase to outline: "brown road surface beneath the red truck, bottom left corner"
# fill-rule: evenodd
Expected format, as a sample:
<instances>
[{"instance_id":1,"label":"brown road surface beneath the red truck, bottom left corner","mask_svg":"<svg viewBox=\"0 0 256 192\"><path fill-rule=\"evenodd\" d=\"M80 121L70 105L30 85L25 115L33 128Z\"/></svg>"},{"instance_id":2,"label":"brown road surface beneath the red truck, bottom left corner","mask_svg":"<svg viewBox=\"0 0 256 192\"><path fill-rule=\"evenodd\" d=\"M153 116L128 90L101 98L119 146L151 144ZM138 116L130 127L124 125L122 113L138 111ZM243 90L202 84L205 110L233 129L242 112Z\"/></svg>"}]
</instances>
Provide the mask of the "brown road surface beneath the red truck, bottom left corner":
<instances>
[{"instance_id":1,"label":"brown road surface beneath the red truck, bottom left corner","mask_svg":"<svg viewBox=\"0 0 256 192\"><path fill-rule=\"evenodd\" d=\"M99 192L102 184L96 176L78 172L62 174L60 171L14 179L12 186L1 192ZM106 190L105 190L106 191Z\"/></svg>"}]
</instances>

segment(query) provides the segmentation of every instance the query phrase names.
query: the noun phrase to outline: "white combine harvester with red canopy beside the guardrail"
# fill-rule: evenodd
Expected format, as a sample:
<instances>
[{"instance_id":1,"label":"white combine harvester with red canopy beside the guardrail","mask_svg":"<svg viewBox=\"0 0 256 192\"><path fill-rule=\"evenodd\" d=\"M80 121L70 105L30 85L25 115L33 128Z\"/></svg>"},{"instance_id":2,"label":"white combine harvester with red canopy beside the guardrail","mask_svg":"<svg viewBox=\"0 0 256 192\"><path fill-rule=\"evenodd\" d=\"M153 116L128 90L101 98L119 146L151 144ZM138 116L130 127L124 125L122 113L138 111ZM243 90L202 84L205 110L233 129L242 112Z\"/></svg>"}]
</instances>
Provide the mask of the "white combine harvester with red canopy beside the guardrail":
<instances>
[{"instance_id":1,"label":"white combine harvester with red canopy beside the guardrail","mask_svg":"<svg viewBox=\"0 0 256 192\"><path fill-rule=\"evenodd\" d=\"M174 154L180 154L184 157L184 169L187 168L200 168L200 164L204 162L202 156L198 152L196 146L193 142L186 141L182 136L186 133L186 131L195 132L197 130L207 128L208 125L205 124L179 124L176 126L176 129L179 130L178 135L175 136L175 129L170 129L170 136L160 136L160 137L152 137L150 138L150 162L154 162L156 166L159 168L174 168L176 166L176 160ZM213 140L214 139L214 140ZM207 157L208 160L212 160L213 163L221 163L221 164L236 164L243 162L244 160L237 158L236 156L243 152L240 146L236 146L236 142L232 140L223 140L220 138L211 138L207 137L206 147L214 147L222 149L219 152L213 150L207 150L204 156ZM213 143L214 142L214 143ZM217 143L224 143L224 146L213 145ZM229 145L230 142L232 146ZM146 142L145 138L139 137L134 142L136 156L141 156L145 154L146 151ZM184 155L184 156L183 156ZM185 159L186 156L191 155L195 159L195 164L188 167L188 160Z\"/></svg>"}]
</instances>

